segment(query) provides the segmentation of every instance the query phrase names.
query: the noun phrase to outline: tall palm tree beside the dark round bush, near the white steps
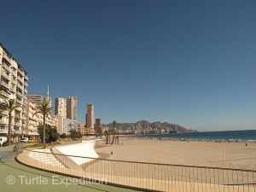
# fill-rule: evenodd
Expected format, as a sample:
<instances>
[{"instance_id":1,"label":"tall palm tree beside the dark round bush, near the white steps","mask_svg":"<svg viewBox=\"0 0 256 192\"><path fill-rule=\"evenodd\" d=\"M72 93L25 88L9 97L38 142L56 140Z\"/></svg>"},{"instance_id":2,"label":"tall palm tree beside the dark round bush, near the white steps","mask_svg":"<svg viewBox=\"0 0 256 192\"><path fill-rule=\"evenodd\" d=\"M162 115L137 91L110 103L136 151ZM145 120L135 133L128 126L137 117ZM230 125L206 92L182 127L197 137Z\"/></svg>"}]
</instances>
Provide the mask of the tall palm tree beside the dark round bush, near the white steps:
<instances>
[{"instance_id":1,"label":"tall palm tree beside the dark round bush, near the white steps","mask_svg":"<svg viewBox=\"0 0 256 192\"><path fill-rule=\"evenodd\" d=\"M33 113L33 116L37 113L41 113L43 114L44 117L44 121L43 121L43 125L44 125L44 130L43 130L43 144L44 144L44 148L46 147L45 145L45 118L49 116L50 112L53 110L53 108L50 108L49 106L49 99L44 97L43 102L41 102L37 107L36 107L36 113Z\"/></svg>"}]
</instances>

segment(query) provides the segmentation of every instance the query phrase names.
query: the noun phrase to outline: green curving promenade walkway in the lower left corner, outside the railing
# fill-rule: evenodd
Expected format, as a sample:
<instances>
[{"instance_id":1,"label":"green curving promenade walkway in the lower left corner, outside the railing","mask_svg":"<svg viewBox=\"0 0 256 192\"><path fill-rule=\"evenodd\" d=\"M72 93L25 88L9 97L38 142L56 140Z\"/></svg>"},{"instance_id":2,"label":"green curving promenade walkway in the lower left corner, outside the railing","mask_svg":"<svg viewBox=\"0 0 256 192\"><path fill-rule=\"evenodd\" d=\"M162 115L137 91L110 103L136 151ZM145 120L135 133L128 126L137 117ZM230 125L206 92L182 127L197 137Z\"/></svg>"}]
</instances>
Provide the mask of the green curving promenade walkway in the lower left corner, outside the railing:
<instances>
[{"instance_id":1,"label":"green curving promenade walkway in the lower left corner, outside the railing","mask_svg":"<svg viewBox=\"0 0 256 192\"><path fill-rule=\"evenodd\" d=\"M65 177L55 173L42 172L27 166L22 166L15 161L13 146L0 148L0 189L4 192L122 192L135 191L122 189L99 183L89 183L73 177Z\"/></svg>"}]
</instances>

